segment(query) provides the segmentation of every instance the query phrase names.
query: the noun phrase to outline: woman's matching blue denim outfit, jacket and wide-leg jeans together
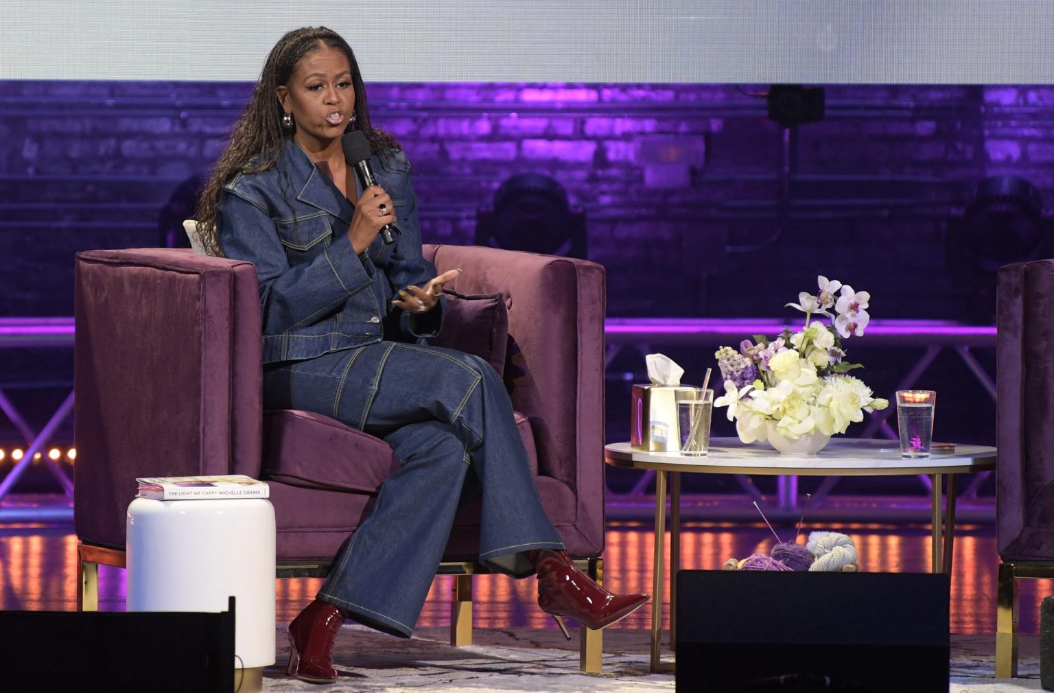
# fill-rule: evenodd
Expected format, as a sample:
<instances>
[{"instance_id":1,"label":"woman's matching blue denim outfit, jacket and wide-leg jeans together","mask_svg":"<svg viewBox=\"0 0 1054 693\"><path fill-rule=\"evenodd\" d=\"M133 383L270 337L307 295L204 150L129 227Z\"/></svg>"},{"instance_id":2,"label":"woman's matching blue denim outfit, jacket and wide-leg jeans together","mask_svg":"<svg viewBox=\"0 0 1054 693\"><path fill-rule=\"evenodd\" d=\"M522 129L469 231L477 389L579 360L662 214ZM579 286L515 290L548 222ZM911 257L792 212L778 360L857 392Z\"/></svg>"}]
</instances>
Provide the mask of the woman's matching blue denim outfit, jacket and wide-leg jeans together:
<instances>
[{"instance_id":1,"label":"woman's matching blue denim outfit, jacket and wide-leg jeans together","mask_svg":"<svg viewBox=\"0 0 1054 693\"><path fill-rule=\"evenodd\" d=\"M409 637L463 496L481 495L480 560L494 570L529 575L524 552L563 544L501 378L482 358L427 344L442 299L424 315L391 304L435 268L422 256L406 156L389 150L371 165L403 232L390 245L378 235L355 254L354 205L292 140L273 169L228 183L216 230L225 255L256 265L265 407L332 416L384 438L402 462L318 597Z\"/></svg>"}]
</instances>

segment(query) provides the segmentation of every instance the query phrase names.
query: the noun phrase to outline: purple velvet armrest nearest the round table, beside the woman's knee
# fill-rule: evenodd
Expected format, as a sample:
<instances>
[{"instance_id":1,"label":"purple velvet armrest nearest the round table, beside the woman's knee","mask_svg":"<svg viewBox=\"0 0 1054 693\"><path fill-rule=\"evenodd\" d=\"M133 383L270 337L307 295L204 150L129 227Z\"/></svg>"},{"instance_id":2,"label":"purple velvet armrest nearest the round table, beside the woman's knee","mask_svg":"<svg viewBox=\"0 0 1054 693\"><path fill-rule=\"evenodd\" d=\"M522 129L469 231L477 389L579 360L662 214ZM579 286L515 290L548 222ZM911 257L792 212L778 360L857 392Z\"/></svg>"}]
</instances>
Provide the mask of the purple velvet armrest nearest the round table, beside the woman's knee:
<instances>
[{"instance_id":1,"label":"purple velvet armrest nearest the round table, beside the woman's knee","mask_svg":"<svg viewBox=\"0 0 1054 693\"><path fill-rule=\"evenodd\" d=\"M577 524L603 547L604 268L479 245L426 245L425 256L440 273L464 270L450 284L457 292L505 295L512 407L530 420L539 473L574 492Z\"/></svg>"}]
</instances>

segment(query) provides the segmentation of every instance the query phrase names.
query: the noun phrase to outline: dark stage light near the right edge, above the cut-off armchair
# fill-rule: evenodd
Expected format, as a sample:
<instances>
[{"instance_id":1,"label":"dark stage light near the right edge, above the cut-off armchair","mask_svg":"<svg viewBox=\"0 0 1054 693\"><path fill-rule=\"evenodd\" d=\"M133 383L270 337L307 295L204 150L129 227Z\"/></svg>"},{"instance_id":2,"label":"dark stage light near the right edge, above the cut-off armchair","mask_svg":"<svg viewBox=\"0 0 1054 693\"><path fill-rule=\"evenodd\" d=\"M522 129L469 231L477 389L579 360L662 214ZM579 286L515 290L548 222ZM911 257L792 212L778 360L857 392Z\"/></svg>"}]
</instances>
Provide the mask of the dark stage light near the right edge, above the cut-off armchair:
<instances>
[{"instance_id":1,"label":"dark stage light near the right edge, above the cut-off armchair","mask_svg":"<svg viewBox=\"0 0 1054 693\"><path fill-rule=\"evenodd\" d=\"M946 263L971 295L972 320L995 319L995 275L1012 262L1054 255L1054 234L1039 190L1020 176L992 176L977 185L961 215L949 219Z\"/></svg>"}]
</instances>

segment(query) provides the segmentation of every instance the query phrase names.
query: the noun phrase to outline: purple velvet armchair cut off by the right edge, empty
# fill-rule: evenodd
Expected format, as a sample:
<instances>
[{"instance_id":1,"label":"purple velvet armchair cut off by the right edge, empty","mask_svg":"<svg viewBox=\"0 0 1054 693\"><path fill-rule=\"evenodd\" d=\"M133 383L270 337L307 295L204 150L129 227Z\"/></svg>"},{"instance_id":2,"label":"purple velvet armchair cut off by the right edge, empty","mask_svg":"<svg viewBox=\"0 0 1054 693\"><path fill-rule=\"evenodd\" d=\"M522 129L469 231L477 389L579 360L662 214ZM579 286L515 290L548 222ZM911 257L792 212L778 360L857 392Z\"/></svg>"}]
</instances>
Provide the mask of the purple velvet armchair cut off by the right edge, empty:
<instances>
[{"instance_id":1,"label":"purple velvet armchair cut off by the right edge, empty","mask_svg":"<svg viewBox=\"0 0 1054 693\"><path fill-rule=\"evenodd\" d=\"M1017 578L1054 577L1054 259L998 277L996 676L1017 675Z\"/></svg>"}]
</instances>

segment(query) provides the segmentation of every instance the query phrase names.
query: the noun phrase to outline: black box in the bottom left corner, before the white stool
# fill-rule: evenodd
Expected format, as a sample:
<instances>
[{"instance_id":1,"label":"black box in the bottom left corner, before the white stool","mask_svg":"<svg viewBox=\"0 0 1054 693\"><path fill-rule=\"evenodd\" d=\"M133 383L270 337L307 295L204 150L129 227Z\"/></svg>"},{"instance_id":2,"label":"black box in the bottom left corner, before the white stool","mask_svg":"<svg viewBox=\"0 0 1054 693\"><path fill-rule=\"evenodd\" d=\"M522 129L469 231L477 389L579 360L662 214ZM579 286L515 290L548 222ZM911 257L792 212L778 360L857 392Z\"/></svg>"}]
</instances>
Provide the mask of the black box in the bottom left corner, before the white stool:
<instances>
[{"instance_id":1,"label":"black box in the bottom left corner, before the white stool","mask_svg":"<svg viewBox=\"0 0 1054 693\"><path fill-rule=\"evenodd\" d=\"M0 611L4 690L234 690L230 611Z\"/></svg>"}]
</instances>

